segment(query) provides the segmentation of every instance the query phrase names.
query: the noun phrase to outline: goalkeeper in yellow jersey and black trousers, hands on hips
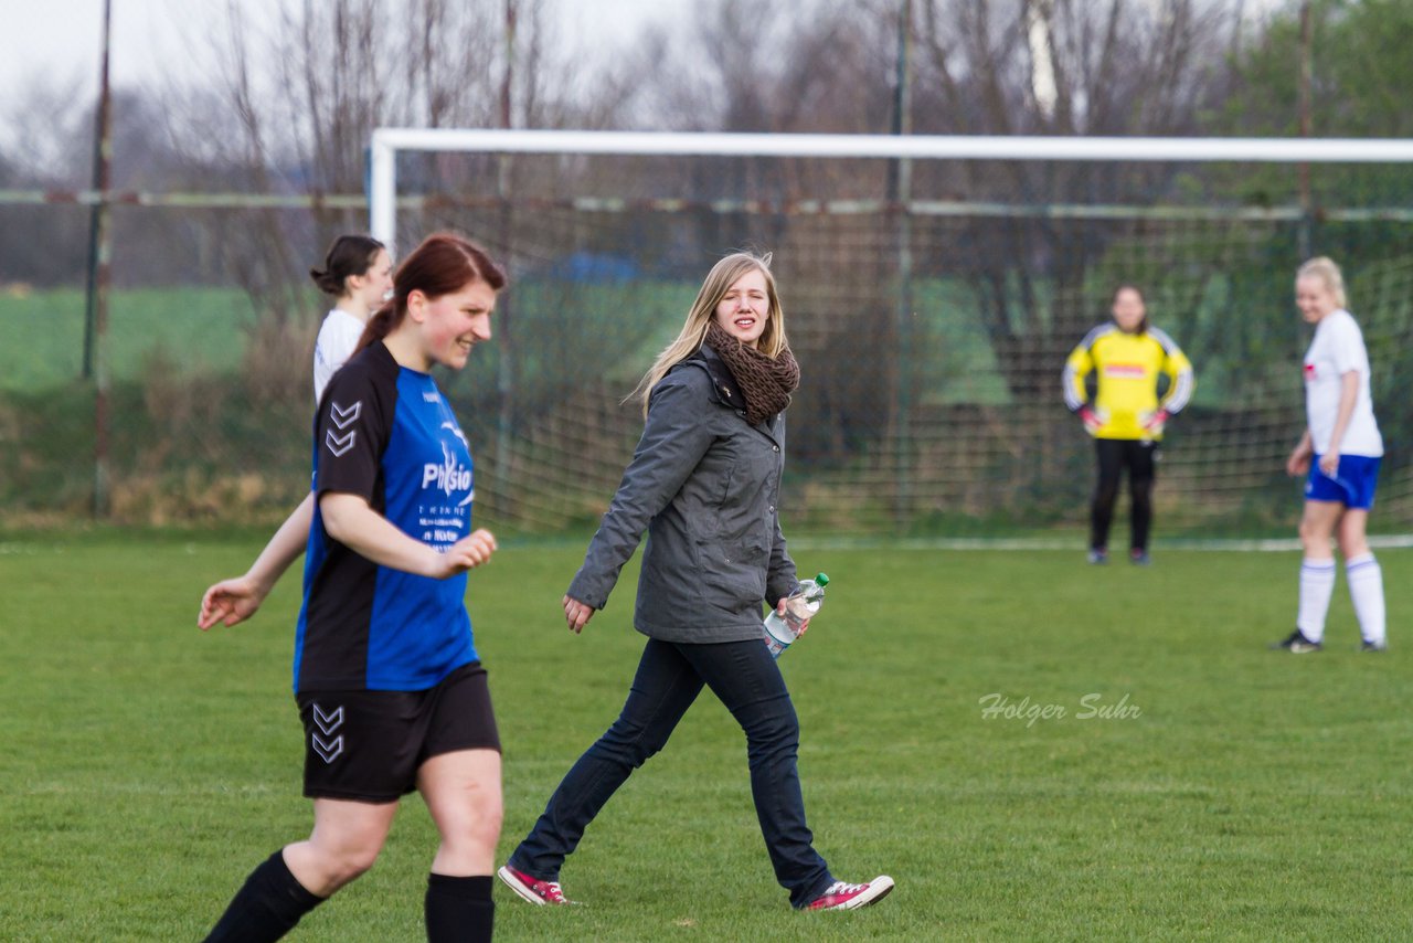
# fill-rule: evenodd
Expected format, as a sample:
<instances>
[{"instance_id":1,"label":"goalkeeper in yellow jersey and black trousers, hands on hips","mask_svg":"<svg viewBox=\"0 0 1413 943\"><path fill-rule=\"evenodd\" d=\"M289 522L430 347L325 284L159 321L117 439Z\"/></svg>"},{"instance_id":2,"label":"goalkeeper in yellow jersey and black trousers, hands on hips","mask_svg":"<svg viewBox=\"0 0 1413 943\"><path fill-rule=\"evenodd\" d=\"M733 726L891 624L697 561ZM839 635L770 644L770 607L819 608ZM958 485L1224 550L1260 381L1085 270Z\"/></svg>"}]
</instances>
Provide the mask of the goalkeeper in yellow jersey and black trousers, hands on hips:
<instances>
[{"instance_id":1,"label":"goalkeeper in yellow jersey and black trousers, hands on hips","mask_svg":"<svg viewBox=\"0 0 1413 943\"><path fill-rule=\"evenodd\" d=\"M1173 338L1149 327L1143 293L1119 286L1112 300L1113 320L1094 328L1064 365L1064 400L1084 420L1099 458L1099 481L1089 510L1089 563L1109 558L1109 523L1119 495L1119 476L1129 472L1132 525L1129 560L1149 561L1153 522L1153 476L1163 427L1193 396L1193 365ZM1089 400L1085 377L1095 375ZM1167 389L1159 400L1159 377Z\"/></svg>"}]
</instances>

